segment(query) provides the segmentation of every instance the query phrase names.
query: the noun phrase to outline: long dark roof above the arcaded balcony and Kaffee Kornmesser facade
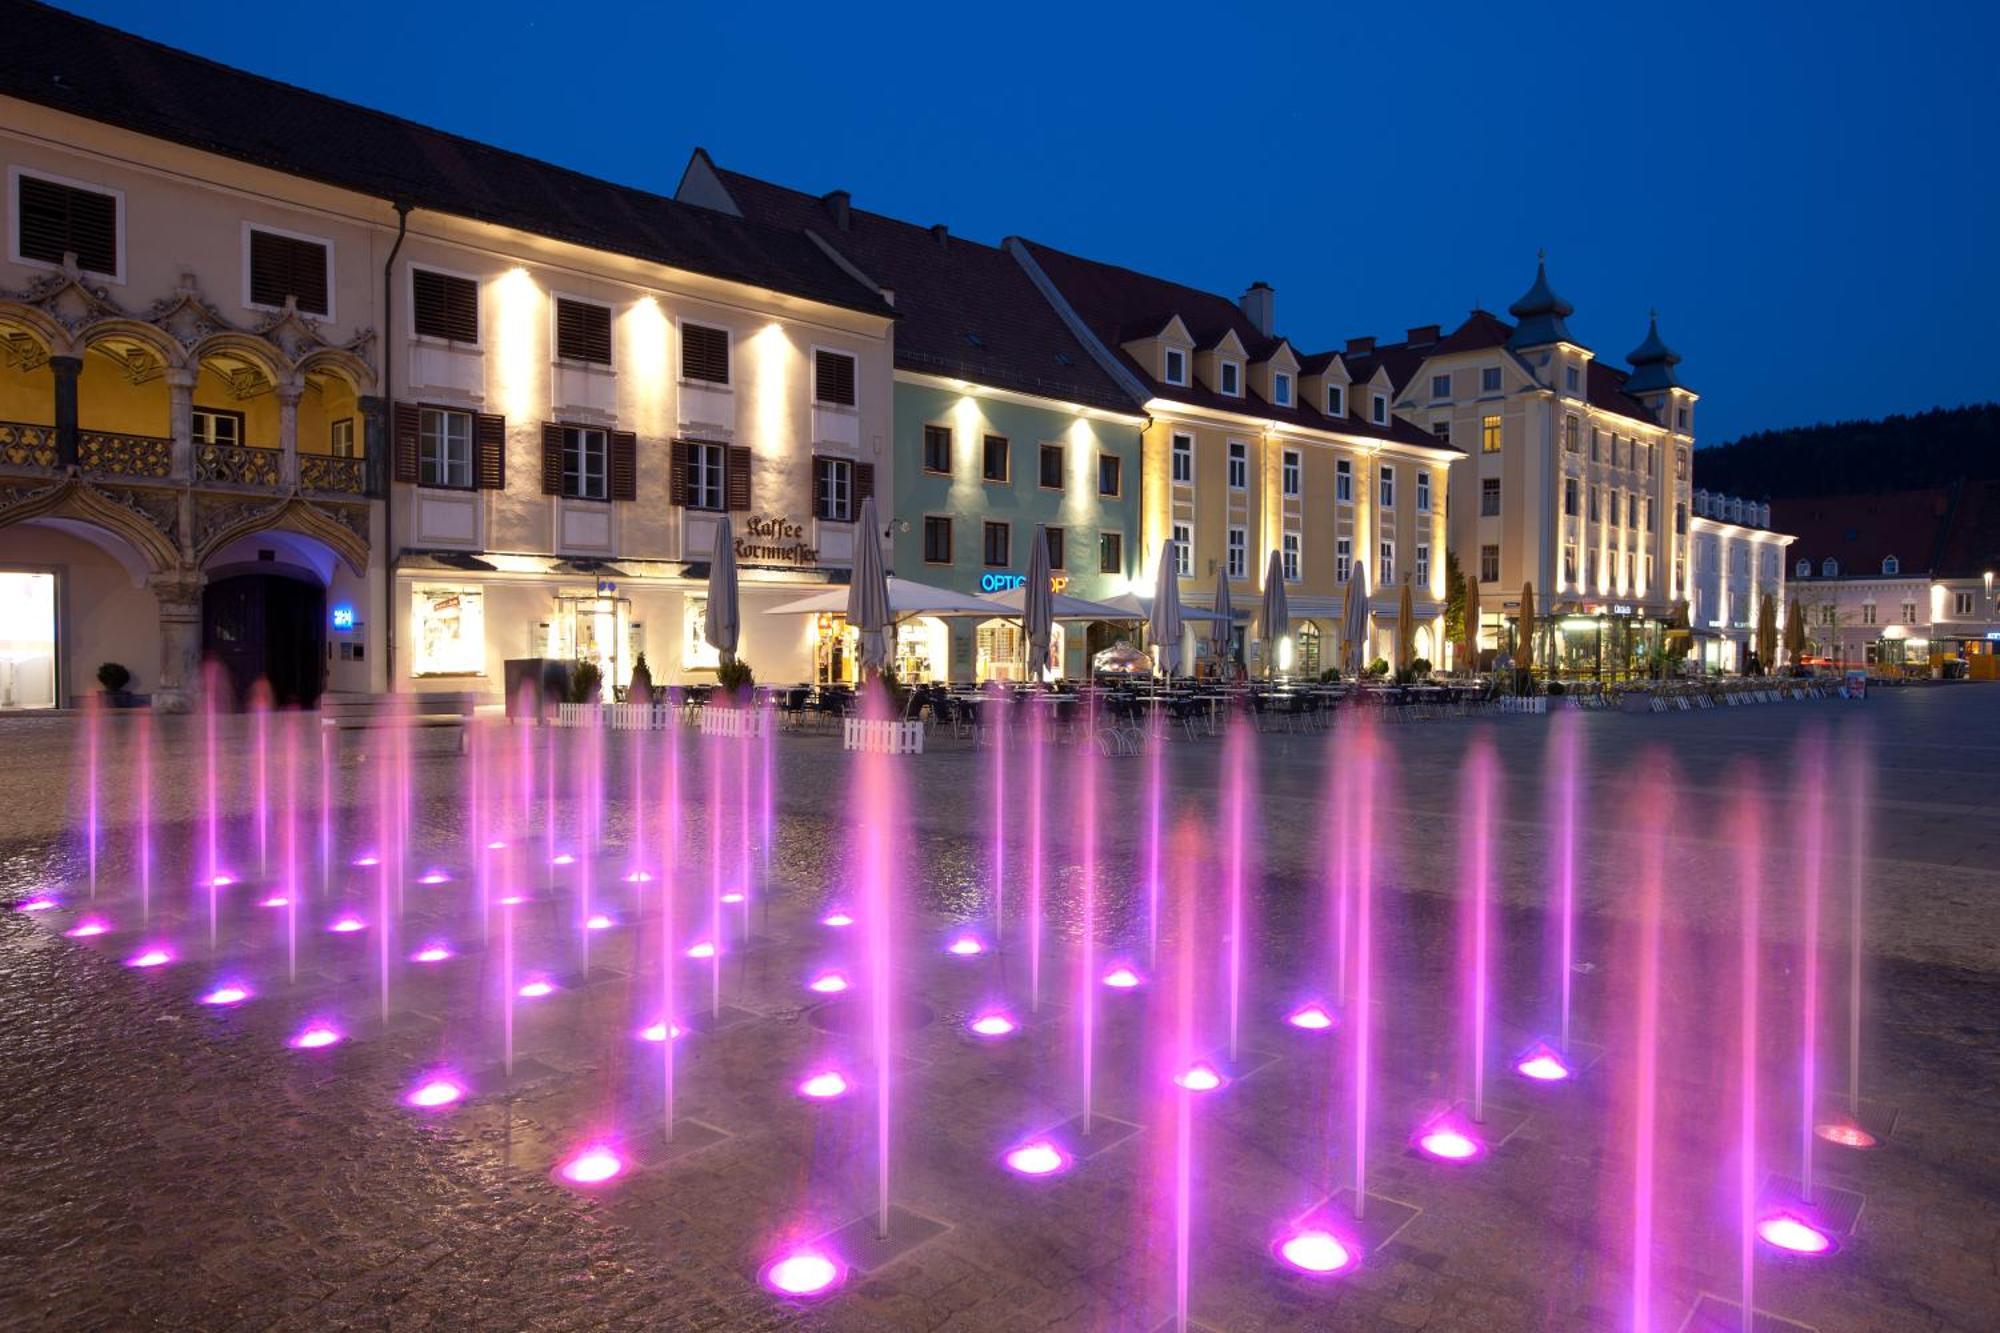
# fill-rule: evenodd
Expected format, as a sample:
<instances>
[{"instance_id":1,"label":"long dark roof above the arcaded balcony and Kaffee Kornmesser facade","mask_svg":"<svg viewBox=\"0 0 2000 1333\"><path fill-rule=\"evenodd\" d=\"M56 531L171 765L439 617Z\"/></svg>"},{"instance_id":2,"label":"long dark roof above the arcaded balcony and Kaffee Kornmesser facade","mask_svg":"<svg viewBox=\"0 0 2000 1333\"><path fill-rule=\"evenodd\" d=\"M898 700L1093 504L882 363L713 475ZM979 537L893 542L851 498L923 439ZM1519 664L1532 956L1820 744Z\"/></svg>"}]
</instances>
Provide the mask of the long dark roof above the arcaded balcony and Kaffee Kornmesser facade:
<instances>
[{"instance_id":1,"label":"long dark roof above the arcaded balcony and Kaffee Kornmesser facade","mask_svg":"<svg viewBox=\"0 0 2000 1333\"><path fill-rule=\"evenodd\" d=\"M28 0L0 0L0 32L4 96L432 212L890 314L798 232L584 176ZM400 58L414 68L420 56Z\"/></svg>"}]
</instances>

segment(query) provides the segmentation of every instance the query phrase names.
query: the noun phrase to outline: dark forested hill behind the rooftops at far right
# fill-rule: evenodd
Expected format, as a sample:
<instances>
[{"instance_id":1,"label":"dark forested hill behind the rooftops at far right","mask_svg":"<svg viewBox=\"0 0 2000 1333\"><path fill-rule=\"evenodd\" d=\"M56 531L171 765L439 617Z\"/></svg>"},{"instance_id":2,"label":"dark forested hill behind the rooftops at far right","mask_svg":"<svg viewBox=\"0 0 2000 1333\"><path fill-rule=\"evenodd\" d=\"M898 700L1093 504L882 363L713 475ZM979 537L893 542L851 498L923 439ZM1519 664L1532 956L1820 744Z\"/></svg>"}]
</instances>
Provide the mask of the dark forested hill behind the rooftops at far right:
<instances>
[{"instance_id":1,"label":"dark forested hill behind the rooftops at far right","mask_svg":"<svg viewBox=\"0 0 2000 1333\"><path fill-rule=\"evenodd\" d=\"M1750 500L2000 478L2000 402L1760 430L1694 452L1694 484Z\"/></svg>"}]
</instances>

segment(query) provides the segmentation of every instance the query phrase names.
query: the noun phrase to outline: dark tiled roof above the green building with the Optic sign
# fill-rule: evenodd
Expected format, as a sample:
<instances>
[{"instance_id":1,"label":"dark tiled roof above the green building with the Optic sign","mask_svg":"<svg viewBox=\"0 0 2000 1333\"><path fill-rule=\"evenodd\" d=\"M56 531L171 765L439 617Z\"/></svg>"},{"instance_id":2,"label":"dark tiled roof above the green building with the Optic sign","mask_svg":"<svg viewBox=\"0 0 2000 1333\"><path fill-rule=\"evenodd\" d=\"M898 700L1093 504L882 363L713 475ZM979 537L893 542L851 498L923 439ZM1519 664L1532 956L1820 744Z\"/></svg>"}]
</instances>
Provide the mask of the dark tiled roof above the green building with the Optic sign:
<instances>
[{"instance_id":1,"label":"dark tiled roof above the green building with the Optic sign","mask_svg":"<svg viewBox=\"0 0 2000 1333\"><path fill-rule=\"evenodd\" d=\"M744 216L816 232L894 292L900 368L1138 412L1006 250L852 206L842 230L822 196L714 172Z\"/></svg>"}]
</instances>

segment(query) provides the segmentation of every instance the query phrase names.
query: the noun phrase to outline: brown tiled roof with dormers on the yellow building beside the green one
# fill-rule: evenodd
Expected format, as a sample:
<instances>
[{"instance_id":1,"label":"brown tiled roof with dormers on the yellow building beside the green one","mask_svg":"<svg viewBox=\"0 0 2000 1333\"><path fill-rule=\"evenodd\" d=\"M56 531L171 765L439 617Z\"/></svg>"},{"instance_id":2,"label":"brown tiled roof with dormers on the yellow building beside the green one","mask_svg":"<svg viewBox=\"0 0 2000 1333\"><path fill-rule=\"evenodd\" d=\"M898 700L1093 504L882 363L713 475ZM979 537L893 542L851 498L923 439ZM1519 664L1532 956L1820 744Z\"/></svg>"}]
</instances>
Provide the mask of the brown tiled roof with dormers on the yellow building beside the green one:
<instances>
[{"instance_id":1,"label":"brown tiled roof with dormers on the yellow building beside the green one","mask_svg":"<svg viewBox=\"0 0 2000 1333\"><path fill-rule=\"evenodd\" d=\"M1292 406L1276 406L1274 402L1258 396L1258 392L1248 384L1248 376L1244 396L1240 398L1212 392L1194 380L1192 374L1188 376L1194 380L1190 384L1168 384L1154 374L1154 366L1142 366L1134 356L1130 356L1124 350L1124 344L1138 338L1150 338L1176 314L1202 348L1214 346L1226 332L1236 330L1236 336L1250 350L1252 362L1268 356L1278 346L1280 338L1266 338L1260 334L1256 324L1252 324L1228 296L1154 278L1150 274L1134 272L1132 268L1118 268L1116 264L1100 264L1076 254L1064 254L1062 250L1052 250L1034 240L1022 240L1020 244L1042 268L1042 272L1048 274L1048 280L1056 284L1056 290L1062 292L1062 298L1072 310L1076 310L1076 316L1084 322L1084 326L1088 326L1090 332L1094 332L1098 340L1110 348L1112 356L1116 356L1126 370L1146 384L1154 396L1216 412L1240 412L1244 416L1290 422L1312 430L1340 430L1346 434L1396 440L1402 444L1452 448L1428 430L1402 420L1394 412L1390 414L1386 426L1370 422L1356 410L1362 406L1354 402L1358 394L1348 394L1348 416L1334 418L1320 412L1316 404L1304 402L1304 396L1298 392L1292 394ZM1300 360L1304 362L1306 358Z\"/></svg>"}]
</instances>

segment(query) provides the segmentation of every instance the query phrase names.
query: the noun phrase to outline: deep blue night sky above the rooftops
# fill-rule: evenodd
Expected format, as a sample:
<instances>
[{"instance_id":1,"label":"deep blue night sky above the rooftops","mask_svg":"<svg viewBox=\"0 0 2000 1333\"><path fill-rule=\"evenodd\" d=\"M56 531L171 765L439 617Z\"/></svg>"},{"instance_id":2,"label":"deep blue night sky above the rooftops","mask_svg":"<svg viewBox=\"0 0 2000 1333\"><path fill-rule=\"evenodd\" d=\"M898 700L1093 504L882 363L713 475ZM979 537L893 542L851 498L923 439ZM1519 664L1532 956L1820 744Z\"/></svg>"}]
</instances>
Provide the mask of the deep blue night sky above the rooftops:
<instances>
[{"instance_id":1,"label":"deep blue night sky above the rooftops","mask_svg":"<svg viewBox=\"0 0 2000 1333\"><path fill-rule=\"evenodd\" d=\"M1504 310L1546 246L1612 364L1660 308L1704 442L2000 394L2000 4L70 8L662 194L702 144L1266 280L1302 348Z\"/></svg>"}]
</instances>

